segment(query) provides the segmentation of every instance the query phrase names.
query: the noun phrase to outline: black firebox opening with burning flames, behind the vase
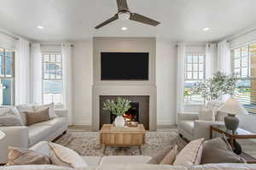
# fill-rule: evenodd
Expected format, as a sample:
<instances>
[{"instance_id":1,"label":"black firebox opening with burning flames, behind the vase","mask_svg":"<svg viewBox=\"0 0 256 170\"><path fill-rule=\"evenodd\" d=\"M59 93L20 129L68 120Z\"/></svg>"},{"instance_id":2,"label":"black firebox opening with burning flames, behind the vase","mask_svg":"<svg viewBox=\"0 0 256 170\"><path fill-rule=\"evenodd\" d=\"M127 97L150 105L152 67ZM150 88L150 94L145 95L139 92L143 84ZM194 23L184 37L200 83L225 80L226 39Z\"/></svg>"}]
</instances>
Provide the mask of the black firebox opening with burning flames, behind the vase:
<instances>
[{"instance_id":1,"label":"black firebox opening with burning flames, behind the vase","mask_svg":"<svg viewBox=\"0 0 256 170\"><path fill-rule=\"evenodd\" d=\"M126 122L139 122L139 103L131 102L131 108L124 113L124 118ZM110 114L110 123L114 122L115 115Z\"/></svg>"}]
</instances>

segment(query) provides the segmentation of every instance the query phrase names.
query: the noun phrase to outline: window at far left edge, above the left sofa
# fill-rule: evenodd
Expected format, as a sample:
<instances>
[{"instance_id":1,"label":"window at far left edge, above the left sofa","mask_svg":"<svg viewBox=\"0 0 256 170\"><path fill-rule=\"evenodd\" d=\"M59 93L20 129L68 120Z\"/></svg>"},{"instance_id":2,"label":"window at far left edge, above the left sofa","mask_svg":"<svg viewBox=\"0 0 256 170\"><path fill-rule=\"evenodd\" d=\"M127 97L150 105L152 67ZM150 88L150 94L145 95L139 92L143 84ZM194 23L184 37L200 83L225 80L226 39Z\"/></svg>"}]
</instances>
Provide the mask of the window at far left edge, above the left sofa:
<instances>
[{"instance_id":1,"label":"window at far left edge, above the left sofa","mask_svg":"<svg viewBox=\"0 0 256 170\"><path fill-rule=\"evenodd\" d=\"M15 52L0 48L0 105L15 105Z\"/></svg>"}]
</instances>

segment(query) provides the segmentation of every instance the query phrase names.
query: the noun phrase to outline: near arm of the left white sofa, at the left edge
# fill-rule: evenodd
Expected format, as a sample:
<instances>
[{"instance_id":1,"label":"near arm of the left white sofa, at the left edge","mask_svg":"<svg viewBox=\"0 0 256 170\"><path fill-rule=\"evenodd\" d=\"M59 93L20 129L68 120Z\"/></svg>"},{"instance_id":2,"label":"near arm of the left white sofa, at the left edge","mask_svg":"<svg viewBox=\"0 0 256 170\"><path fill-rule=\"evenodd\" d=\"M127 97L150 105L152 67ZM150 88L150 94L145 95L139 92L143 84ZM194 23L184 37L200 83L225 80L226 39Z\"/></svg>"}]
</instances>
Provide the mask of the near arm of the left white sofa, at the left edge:
<instances>
[{"instance_id":1,"label":"near arm of the left white sofa, at the left edge","mask_svg":"<svg viewBox=\"0 0 256 170\"><path fill-rule=\"evenodd\" d=\"M28 128L27 127L0 127L5 133L5 138L0 141L0 164L7 162L8 147L15 146L28 148Z\"/></svg>"}]
</instances>

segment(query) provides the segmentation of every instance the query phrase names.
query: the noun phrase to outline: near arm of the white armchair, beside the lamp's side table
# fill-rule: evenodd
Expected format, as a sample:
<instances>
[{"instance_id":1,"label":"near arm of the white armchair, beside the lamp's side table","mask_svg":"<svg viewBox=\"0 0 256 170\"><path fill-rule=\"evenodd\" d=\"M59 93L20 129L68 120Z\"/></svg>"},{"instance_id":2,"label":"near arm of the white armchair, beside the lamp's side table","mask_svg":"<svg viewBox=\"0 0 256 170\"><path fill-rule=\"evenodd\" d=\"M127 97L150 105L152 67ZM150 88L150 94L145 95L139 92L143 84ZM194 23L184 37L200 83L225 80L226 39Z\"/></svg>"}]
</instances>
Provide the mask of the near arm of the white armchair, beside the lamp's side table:
<instances>
[{"instance_id":1,"label":"near arm of the white armchair, beside the lamp's side table","mask_svg":"<svg viewBox=\"0 0 256 170\"><path fill-rule=\"evenodd\" d=\"M224 122L195 121L194 137L195 139L210 139L210 127L212 125L224 125Z\"/></svg>"}]
</instances>

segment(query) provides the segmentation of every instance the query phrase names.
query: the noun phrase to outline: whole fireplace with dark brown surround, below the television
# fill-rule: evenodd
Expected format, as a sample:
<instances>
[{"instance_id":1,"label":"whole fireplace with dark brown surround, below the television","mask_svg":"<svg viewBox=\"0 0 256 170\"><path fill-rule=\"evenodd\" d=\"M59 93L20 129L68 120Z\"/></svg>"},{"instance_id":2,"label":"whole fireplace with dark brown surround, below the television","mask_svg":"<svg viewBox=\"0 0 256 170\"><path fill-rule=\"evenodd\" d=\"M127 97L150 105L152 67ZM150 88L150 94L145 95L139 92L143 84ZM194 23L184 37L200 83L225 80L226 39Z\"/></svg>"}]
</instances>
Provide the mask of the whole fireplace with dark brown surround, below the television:
<instances>
[{"instance_id":1,"label":"whole fireplace with dark brown surround, below the television","mask_svg":"<svg viewBox=\"0 0 256 170\"><path fill-rule=\"evenodd\" d=\"M100 96L100 128L103 124L113 123L116 116L103 110L103 102L107 99L122 97L131 100L131 108L123 115L125 121L139 122L149 129L149 96Z\"/></svg>"}]
</instances>

